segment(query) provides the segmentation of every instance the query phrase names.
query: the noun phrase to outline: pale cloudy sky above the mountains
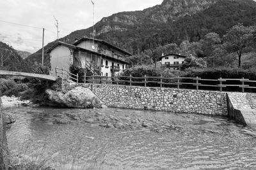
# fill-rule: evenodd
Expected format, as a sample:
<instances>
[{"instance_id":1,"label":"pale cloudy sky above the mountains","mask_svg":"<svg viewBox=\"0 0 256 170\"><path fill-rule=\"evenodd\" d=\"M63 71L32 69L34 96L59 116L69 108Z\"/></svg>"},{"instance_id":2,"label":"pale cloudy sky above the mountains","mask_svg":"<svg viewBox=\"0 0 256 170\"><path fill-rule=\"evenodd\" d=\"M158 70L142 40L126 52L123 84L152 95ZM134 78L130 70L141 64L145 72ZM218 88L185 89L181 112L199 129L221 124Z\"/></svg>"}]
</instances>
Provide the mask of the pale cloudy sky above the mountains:
<instances>
[{"instance_id":1,"label":"pale cloudy sky above the mountains","mask_svg":"<svg viewBox=\"0 0 256 170\"><path fill-rule=\"evenodd\" d=\"M143 10L161 4L163 0L93 0L95 23L103 17L121 11ZM59 37L93 25L91 0L0 0L0 41L16 50L36 52L42 48L42 28L45 28L44 44ZM21 25L29 25L25 27Z\"/></svg>"}]
</instances>

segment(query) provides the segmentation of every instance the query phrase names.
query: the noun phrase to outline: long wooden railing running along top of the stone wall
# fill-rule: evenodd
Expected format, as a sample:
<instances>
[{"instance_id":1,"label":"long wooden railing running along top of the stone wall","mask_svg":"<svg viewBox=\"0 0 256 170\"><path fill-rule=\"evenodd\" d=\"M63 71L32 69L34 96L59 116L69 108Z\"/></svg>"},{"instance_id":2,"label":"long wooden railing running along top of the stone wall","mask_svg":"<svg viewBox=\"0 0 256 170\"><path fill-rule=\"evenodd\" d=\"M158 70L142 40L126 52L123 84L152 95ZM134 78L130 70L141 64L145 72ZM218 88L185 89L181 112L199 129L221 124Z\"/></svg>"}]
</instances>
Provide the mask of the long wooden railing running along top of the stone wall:
<instances>
[{"instance_id":1,"label":"long wooden railing running along top of the stone wall","mask_svg":"<svg viewBox=\"0 0 256 170\"><path fill-rule=\"evenodd\" d=\"M116 85L136 85L144 87L174 87L177 89L202 89L202 90L220 90L223 91L223 88L236 87L240 89L239 91L244 92L244 89L256 89L256 81L249 80L244 78L218 78L214 79L204 79L204 78L191 78L191 77L172 77L165 78L163 76L143 76L143 77L133 77L133 76L83 76L84 83L112 83ZM209 82L209 83L207 83ZM250 83L250 85L246 84ZM254 86L253 86L254 85ZM201 87L201 88L200 88ZM253 90L256 92L255 90Z\"/></svg>"}]
</instances>

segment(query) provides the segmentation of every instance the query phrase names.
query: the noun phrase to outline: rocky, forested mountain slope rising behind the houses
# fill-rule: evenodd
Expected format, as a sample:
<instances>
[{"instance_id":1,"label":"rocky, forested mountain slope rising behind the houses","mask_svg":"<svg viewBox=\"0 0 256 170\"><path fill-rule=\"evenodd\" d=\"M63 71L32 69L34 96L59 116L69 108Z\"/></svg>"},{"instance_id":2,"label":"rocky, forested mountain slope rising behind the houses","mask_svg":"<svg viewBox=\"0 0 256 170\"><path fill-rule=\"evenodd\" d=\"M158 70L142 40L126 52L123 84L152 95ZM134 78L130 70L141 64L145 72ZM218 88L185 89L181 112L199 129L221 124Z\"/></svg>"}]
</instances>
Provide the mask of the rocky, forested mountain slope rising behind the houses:
<instances>
[{"instance_id":1,"label":"rocky, forested mountain slope rising behind the houses","mask_svg":"<svg viewBox=\"0 0 256 170\"><path fill-rule=\"evenodd\" d=\"M225 34L237 23L256 24L256 3L252 0L164 0L143 11L120 12L95 24L97 38L136 53L138 48L154 50L184 39L198 41L208 32ZM70 33L60 41L73 43L75 38L90 36L92 27ZM45 46L49 48L53 43ZM40 51L36 52L40 53ZM39 54L38 54L39 56ZM29 60L40 61L32 54Z\"/></svg>"}]
</instances>

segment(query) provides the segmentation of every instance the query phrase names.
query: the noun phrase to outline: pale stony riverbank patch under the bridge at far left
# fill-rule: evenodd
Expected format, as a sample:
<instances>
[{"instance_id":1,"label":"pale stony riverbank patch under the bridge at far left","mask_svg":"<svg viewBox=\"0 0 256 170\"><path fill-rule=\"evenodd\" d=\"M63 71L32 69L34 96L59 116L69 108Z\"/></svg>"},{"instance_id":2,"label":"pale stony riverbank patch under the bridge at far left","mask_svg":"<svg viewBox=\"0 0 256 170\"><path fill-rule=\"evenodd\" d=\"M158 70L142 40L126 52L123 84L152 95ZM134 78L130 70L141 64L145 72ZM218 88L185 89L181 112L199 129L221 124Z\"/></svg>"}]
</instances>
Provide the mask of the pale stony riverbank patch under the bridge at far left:
<instances>
[{"instance_id":1,"label":"pale stony riverbank patch under the bridge at far left","mask_svg":"<svg viewBox=\"0 0 256 170\"><path fill-rule=\"evenodd\" d=\"M15 96L2 96L1 99L3 102L3 108L12 108L15 106L29 106L33 104L29 100L21 100L20 97Z\"/></svg>"}]
</instances>

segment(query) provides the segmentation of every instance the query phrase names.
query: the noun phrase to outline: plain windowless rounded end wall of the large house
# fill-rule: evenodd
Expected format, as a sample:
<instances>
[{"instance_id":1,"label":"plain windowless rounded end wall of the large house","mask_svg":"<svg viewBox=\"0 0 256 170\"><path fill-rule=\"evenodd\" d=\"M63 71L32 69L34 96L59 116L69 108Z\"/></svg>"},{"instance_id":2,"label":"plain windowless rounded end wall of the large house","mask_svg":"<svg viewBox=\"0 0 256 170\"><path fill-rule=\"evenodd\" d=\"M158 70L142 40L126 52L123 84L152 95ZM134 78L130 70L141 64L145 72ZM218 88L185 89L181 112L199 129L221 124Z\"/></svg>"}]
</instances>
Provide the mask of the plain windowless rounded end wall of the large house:
<instances>
[{"instance_id":1,"label":"plain windowless rounded end wall of the large house","mask_svg":"<svg viewBox=\"0 0 256 170\"><path fill-rule=\"evenodd\" d=\"M50 74L56 76L55 68L56 67L64 67L65 69L69 69L70 64L73 63L73 53L70 51L70 48L67 46L57 46L50 53L50 63L51 70Z\"/></svg>"}]
</instances>

